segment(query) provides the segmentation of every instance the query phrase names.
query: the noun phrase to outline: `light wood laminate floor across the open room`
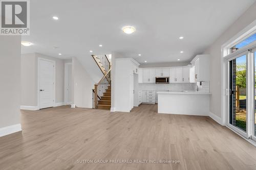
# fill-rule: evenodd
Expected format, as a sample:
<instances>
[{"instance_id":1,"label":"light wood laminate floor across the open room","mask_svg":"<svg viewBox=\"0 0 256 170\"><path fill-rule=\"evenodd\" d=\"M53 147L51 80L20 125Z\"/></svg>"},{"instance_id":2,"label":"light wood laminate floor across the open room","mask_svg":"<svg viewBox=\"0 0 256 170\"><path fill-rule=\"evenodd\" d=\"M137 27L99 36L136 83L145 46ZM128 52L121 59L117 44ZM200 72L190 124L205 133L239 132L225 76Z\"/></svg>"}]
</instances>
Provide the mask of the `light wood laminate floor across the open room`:
<instances>
[{"instance_id":1,"label":"light wood laminate floor across the open room","mask_svg":"<svg viewBox=\"0 0 256 170\"><path fill-rule=\"evenodd\" d=\"M0 137L0 169L256 169L256 148L206 116L61 106L22 111L23 132ZM180 163L77 163L77 160Z\"/></svg>"}]
</instances>

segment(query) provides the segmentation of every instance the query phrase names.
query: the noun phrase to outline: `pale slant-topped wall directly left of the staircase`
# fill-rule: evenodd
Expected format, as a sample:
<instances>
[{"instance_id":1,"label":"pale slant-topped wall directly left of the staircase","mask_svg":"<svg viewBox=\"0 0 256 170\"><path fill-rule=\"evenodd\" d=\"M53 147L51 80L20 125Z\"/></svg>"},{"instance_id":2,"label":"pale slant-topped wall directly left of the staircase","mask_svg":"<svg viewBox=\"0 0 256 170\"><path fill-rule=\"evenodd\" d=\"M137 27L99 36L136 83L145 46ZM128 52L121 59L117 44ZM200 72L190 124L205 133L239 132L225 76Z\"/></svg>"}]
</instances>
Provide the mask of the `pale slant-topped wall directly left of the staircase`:
<instances>
[{"instance_id":1,"label":"pale slant-topped wall directly left of the staircase","mask_svg":"<svg viewBox=\"0 0 256 170\"><path fill-rule=\"evenodd\" d=\"M73 101L80 108L92 108L92 89L95 82L76 57L72 58Z\"/></svg>"}]
</instances>

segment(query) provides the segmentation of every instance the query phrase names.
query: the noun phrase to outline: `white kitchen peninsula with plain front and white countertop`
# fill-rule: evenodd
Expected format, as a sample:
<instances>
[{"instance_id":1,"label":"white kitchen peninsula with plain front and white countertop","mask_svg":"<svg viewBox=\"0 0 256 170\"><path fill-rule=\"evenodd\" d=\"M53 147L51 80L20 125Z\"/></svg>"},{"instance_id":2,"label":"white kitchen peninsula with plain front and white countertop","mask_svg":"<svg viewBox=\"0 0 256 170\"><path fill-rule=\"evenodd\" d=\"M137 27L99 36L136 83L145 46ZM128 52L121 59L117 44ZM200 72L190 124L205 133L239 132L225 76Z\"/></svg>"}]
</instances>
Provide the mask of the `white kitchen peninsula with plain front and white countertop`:
<instances>
[{"instance_id":1,"label":"white kitchen peninsula with plain front and white countertop","mask_svg":"<svg viewBox=\"0 0 256 170\"><path fill-rule=\"evenodd\" d=\"M158 113L209 115L210 93L200 91L160 91Z\"/></svg>"}]
</instances>

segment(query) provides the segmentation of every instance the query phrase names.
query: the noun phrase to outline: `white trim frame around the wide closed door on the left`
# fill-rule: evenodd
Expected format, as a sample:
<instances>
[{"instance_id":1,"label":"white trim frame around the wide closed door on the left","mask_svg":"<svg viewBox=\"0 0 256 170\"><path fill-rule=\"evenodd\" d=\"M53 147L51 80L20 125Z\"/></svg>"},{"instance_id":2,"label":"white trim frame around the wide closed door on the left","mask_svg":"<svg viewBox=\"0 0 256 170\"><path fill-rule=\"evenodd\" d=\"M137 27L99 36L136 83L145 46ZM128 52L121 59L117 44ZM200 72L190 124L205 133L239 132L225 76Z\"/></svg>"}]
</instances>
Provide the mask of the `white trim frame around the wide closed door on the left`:
<instances>
[{"instance_id":1,"label":"white trim frame around the wide closed door on the left","mask_svg":"<svg viewBox=\"0 0 256 170\"><path fill-rule=\"evenodd\" d=\"M41 109L40 108L40 60L45 60L45 61L50 61L50 62L53 62L53 107L55 106L55 86L56 86L56 83L55 83L55 74L56 74L56 62L54 60L49 60L49 59L45 59L45 58L40 58L38 57L37 58L37 107L38 109Z\"/></svg>"}]
</instances>

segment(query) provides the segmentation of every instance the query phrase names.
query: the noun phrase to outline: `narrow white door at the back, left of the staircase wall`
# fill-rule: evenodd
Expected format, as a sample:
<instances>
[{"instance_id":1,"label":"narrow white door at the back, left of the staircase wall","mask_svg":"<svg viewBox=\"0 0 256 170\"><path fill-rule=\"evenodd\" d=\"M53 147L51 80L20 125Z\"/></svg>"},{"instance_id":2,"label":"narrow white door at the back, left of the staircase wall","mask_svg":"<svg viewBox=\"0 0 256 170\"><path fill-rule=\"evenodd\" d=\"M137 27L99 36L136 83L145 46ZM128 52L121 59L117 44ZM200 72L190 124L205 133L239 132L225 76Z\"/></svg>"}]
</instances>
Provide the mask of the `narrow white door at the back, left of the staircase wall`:
<instances>
[{"instance_id":1,"label":"narrow white door at the back, left of the staircase wall","mask_svg":"<svg viewBox=\"0 0 256 170\"><path fill-rule=\"evenodd\" d=\"M72 63L65 64L65 103L72 103Z\"/></svg>"}]
</instances>

